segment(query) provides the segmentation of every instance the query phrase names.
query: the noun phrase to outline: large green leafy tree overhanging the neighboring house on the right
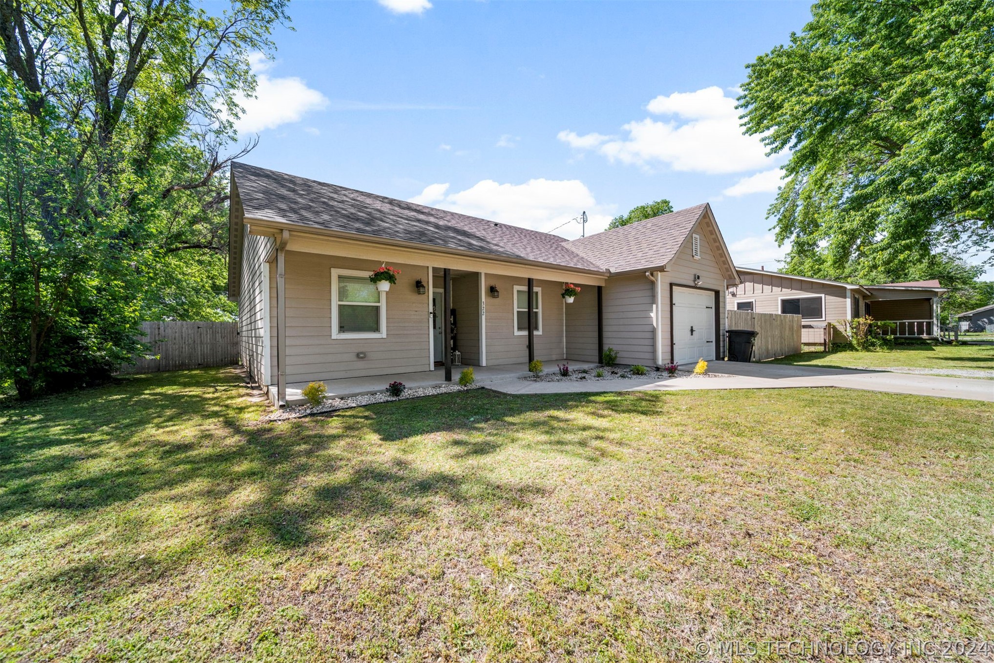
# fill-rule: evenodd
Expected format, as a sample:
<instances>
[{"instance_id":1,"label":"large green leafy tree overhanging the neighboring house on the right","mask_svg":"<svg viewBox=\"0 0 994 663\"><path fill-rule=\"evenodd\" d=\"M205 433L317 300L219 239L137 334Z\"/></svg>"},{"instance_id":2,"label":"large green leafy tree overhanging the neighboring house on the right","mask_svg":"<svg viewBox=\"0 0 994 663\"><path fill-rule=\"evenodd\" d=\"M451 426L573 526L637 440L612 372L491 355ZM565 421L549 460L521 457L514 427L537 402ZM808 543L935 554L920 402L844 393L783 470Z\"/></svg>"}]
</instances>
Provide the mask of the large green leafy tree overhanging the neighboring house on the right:
<instances>
[{"instance_id":1,"label":"large green leafy tree overhanging the neighboring house on the right","mask_svg":"<svg viewBox=\"0 0 994 663\"><path fill-rule=\"evenodd\" d=\"M748 66L745 130L789 151L786 271L906 280L994 241L994 3L822 0ZM855 273L853 270L855 269Z\"/></svg>"}]
</instances>

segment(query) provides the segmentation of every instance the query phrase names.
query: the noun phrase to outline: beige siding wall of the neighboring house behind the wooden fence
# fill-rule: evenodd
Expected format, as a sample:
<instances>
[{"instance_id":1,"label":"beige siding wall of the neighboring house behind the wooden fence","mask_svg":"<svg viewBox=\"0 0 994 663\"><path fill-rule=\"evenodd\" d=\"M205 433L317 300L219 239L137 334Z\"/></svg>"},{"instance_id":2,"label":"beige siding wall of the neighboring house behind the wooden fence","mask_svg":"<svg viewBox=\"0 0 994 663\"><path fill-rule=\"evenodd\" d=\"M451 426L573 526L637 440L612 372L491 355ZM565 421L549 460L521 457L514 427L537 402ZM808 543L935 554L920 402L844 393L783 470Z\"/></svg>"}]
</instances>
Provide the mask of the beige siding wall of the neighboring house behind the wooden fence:
<instances>
[{"instance_id":1,"label":"beige siding wall of the neighboring house behind the wooden fence","mask_svg":"<svg viewBox=\"0 0 994 663\"><path fill-rule=\"evenodd\" d=\"M824 295L825 319L804 320L804 324L831 324L833 337L844 336L838 321L849 319L849 290L845 286L775 273L739 272L739 277L743 282L736 288L736 296L728 297L729 308L735 310L736 301L754 299L753 310L756 313L779 313L781 297Z\"/></svg>"}]
</instances>

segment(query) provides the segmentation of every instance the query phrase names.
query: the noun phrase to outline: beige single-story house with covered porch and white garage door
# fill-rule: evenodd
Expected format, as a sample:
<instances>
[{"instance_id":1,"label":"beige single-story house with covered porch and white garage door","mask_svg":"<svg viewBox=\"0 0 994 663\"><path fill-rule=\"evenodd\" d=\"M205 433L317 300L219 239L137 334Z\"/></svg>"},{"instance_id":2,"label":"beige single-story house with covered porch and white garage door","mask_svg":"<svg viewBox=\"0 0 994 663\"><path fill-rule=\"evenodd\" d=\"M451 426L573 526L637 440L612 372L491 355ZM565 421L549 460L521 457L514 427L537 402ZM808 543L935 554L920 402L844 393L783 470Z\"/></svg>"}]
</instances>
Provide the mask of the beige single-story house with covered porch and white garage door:
<instances>
[{"instance_id":1,"label":"beige single-story house with covered porch and white garage door","mask_svg":"<svg viewBox=\"0 0 994 663\"><path fill-rule=\"evenodd\" d=\"M242 361L277 403L288 383L436 366L448 380L446 346L523 370L606 347L622 364L720 358L739 282L707 204L571 242L236 163L230 224ZM401 269L389 292L368 278L384 263Z\"/></svg>"}]
</instances>

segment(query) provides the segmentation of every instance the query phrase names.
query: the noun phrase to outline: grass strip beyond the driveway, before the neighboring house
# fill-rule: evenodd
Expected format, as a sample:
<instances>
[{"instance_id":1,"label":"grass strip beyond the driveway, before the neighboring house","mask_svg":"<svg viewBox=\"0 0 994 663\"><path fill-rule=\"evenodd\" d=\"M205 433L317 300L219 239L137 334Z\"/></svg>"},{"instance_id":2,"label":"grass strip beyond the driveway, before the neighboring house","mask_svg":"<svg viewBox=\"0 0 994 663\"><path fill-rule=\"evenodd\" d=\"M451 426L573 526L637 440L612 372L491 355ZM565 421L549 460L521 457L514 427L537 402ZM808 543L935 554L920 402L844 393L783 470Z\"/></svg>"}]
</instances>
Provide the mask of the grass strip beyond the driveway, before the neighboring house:
<instances>
[{"instance_id":1,"label":"grass strip beyond the driveway, before the neighboring house","mask_svg":"<svg viewBox=\"0 0 994 663\"><path fill-rule=\"evenodd\" d=\"M994 371L994 345L899 345L882 352L802 352L771 364L826 368L981 369Z\"/></svg>"}]
</instances>

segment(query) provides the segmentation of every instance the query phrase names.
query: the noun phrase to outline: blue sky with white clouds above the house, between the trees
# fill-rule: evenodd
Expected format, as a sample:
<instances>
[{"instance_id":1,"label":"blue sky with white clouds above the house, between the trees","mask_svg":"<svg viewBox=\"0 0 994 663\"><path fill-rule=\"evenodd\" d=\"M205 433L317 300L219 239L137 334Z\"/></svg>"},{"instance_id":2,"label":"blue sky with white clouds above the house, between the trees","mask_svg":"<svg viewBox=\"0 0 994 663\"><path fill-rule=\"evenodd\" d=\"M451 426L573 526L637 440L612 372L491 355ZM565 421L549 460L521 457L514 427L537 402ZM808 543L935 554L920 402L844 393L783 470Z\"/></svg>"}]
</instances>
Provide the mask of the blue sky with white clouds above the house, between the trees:
<instances>
[{"instance_id":1,"label":"blue sky with white clouds above the house, between the trees","mask_svg":"<svg viewBox=\"0 0 994 663\"><path fill-rule=\"evenodd\" d=\"M246 161L564 237L710 202L739 263L782 254L777 166L734 109L804 2L295 1L257 63Z\"/></svg>"}]
</instances>

